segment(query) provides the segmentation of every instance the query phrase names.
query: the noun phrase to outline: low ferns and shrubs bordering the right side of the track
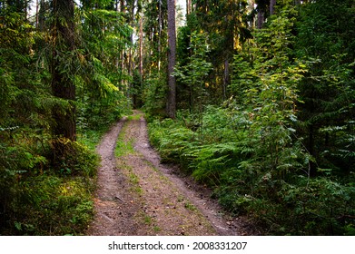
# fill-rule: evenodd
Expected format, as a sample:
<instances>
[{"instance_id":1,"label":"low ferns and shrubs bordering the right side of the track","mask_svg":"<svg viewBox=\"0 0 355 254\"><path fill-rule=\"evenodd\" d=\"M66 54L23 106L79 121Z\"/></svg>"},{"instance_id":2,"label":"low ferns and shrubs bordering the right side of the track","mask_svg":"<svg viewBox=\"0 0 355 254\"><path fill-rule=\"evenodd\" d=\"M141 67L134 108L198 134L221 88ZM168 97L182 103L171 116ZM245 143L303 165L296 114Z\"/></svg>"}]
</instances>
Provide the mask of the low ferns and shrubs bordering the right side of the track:
<instances>
[{"instance_id":1,"label":"low ferns and shrubs bordering the right side of the track","mask_svg":"<svg viewBox=\"0 0 355 254\"><path fill-rule=\"evenodd\" d=\"M225 210L248 215L265 234L354 235L354 173L319 169L311 177L310 156L278 128L258 130L248 113L209 106L200 120L180 112L176 121L150 122L149 136L163 161L179 163ZM263 141L271 132L273 143Z\"/></svg>"}]
</instances>

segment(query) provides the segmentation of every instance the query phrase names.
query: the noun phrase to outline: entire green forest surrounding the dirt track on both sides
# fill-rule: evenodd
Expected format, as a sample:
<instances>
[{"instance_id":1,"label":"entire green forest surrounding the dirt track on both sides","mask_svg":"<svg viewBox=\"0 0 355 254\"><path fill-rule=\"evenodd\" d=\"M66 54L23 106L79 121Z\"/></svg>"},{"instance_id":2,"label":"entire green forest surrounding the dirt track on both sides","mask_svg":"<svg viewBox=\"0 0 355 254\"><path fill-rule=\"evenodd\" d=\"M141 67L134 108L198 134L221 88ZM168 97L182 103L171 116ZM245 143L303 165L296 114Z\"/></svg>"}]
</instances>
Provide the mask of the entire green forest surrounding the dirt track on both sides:
<instances>
[{"instance_id":1,"label":"entire green forest surrounding the dirt track on both sides","mask_svg":"<svg viewBox=\"0 0 355 254\"><path fill-rule=\"evenodd\" d=\"M163 161L265 234L355 235L354 0L0 1L0 234L84 234L94 146Z\"/></svg>"}]
</instances>

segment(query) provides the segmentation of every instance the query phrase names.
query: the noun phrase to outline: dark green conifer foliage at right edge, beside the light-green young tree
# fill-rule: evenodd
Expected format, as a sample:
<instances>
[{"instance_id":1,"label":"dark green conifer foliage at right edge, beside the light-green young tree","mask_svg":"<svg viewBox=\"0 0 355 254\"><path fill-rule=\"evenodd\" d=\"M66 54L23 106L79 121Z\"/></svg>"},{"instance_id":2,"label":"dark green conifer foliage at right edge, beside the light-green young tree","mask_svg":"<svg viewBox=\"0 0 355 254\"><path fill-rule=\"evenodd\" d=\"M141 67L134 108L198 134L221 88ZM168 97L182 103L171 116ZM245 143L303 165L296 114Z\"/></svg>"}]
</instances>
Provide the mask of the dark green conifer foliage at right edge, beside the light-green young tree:
<instances>
[{"instance_id":1,"label":"dark green conifer foliage at right edge, beside the light-green young tree","mask_svg":"<svg viewBox=\"0 0 355 254\"><path fill-rule=\"evenodd\" d=\"M316 1L300 9L295 44L309 69L298 130L319 167L345 174L354 170L354 25L353 1Z\"/></svg>"}]
</instances>

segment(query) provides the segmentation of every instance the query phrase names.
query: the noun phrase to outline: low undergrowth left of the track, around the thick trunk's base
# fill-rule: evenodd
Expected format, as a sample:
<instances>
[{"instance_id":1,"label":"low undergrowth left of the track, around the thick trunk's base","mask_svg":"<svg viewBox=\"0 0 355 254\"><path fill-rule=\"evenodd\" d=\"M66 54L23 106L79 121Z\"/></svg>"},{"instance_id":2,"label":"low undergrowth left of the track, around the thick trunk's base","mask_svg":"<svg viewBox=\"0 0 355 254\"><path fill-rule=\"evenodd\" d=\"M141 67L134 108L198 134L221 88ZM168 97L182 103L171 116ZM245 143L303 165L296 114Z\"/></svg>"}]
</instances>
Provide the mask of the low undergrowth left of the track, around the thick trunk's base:
<instances>
[{"instance_id":1,"label":"low undergrowth left of the track, around the thick trunk's base","mask_svg":"<svg viewBox=\"0 0 355 254\"><path fill-rule=\"evenodd\" d=\"M79 124L77 142L1 129L0 235L84 235L94 218L95 146L110 125ZM62 160L53 164L58 143Z\"/></svg>"}]
</instances>

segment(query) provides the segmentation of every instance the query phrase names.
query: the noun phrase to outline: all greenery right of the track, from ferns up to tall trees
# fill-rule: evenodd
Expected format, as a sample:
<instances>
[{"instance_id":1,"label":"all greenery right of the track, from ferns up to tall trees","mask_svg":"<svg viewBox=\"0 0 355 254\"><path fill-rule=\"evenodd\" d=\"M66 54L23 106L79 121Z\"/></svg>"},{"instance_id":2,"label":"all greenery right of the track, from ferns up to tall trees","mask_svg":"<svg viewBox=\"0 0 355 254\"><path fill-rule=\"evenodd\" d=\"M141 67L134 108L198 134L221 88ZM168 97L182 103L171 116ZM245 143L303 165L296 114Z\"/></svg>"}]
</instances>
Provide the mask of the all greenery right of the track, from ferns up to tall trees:
<instances>
[{"instance_id":1,"label":"all greenery right of the track, from ferns up to tall trees","mask_svg":"<svg viewBox=\"0 0 355 254\"><path fill-rule=\"evenodd\" d=\"M354 6L293 2L277 1L262 27L239 34L233 61L224 58L225 91L216 90L216 58L227 47L213 23L222 5L192 13L175 69L181 110L175 120L151 118L150 140L265 234L354 235Z\"/></svg>"}]
</instances>

